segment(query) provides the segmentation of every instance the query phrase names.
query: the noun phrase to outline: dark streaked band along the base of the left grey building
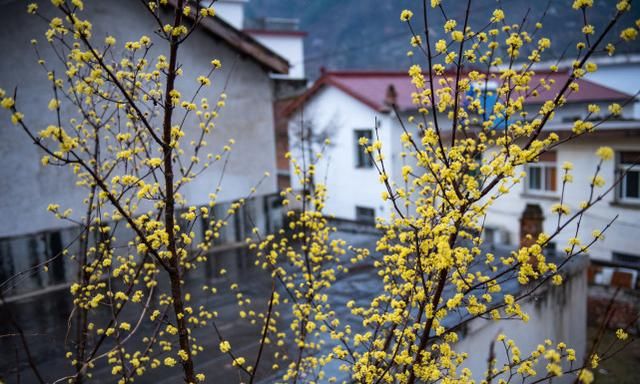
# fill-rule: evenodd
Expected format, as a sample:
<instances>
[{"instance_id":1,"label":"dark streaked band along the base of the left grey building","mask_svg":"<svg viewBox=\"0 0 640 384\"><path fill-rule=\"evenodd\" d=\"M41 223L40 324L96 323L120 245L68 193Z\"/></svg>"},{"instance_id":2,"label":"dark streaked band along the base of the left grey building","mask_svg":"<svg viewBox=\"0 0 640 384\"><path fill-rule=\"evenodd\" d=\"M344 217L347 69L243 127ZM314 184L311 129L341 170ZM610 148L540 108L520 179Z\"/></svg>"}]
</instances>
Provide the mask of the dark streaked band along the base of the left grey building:
<instances>
[{"instance_id":1,"label":"dark streaked band along the base of the left grey building","mask_svg":"<svg viewBox=\"0 0 640 384\"><path fill-rule=\"evenodd\" d=\"M195 221L191 229L196 235L195 244L204 239L208 220L226 217L233 203L218 203L211 210L209 219ZM279 194L245 199L244 204L228 217L227 225L220 229L209 254L225 252L230 247L239 248L248 237L254 236L254 228L262 234L275 233L283 227L283 217ZM117 238L114 247L126 247L135 238L123 222L112 222L110 227ZM0 292L4 299L12 301L12 298L68 287L78 276L75 256L81 251L80 239L84 233L84 228L73 226L0 238ZM89 236L91 244L95 244L95 233L91 232Z\"/></svg>"}]
</instances>

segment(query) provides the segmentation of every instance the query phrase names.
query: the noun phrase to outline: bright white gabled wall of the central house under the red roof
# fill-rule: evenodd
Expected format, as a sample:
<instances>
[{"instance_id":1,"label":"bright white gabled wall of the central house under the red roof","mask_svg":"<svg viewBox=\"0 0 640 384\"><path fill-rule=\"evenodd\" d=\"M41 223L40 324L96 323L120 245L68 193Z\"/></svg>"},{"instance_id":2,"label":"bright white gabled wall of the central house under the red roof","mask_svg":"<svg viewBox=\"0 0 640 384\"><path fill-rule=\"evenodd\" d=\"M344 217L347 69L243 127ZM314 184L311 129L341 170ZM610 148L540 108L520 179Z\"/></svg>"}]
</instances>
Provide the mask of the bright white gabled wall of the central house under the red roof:
<instances>
[{"instance_id":1,"label":"bright white gabled wall of the central house under the red roof","mask_svg":"<svg viewBox=\"0 0 640 384\"><path fill-rule=\"evenodd\" d=\"M375 117L384 119L380 113L357 101L343 91L325 86L305 106L291 118L289 125L292 155L300 159L300 148L296 143L301 117L312 121L314 127L324 129L334 127L331 138L333 147L325 154L317 166L317 182L326 180L328 199L325 213L345 219L355 219L356 206L374 208L376 216L389 215L388 207L381 198L384 187L379 182L375 168L357 168L354 130L373 129ZM381 124L381 141L384 148L390 148L391 132L386 124ZM387 158L391 154L387 153ZM391 168L391 167L390 167ZM392 173L392 170L388 170ZM292 172L292 186L299 189L300 182Z\"/></svg>"}]
</instances>

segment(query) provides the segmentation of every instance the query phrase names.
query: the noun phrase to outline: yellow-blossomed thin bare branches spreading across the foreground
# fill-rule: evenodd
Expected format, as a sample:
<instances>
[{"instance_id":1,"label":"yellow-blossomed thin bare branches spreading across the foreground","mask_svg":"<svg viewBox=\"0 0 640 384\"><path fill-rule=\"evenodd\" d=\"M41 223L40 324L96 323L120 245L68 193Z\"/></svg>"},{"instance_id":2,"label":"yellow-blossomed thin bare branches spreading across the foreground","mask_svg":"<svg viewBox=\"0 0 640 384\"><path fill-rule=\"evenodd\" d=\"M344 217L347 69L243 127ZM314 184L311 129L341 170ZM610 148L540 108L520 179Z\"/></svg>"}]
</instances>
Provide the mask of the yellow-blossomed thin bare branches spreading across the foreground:
<instances>
[{"instance_id":1,"label":"yellow-blossomed thin bare branches spreading across the foreground","mask_svg":"<svg viewBox=\"0 0 640 384\"><path fill-rule=\"evenodd\" d=\"M52 44L64 44L68 54L63 72L47 71L54 90L48 107L57 114L69 101L80 113L34 137L46 151L41 163L69 166L76 184L87 191L90 214L78 220L90 236L83 237L85 251L70 256L78 262L80 277L70 293L79 316L85 316L87 340L117 345L104 354L114 375L141 376L164 366L182 368L188 381L202 382L204 374L188 368L193 357L205 351L194 330L213 326L219 351L228 355L243 379L253 379L257 367L247 364L253 360L238 356L239 348L232 349L219 333L219 300L211 304L192 299L185 284L191 271L209 262L222 231L246 204L241 199L219 210L221 187L211 191L205 206L190 205L184 192L216 161L224 161L224 169L234 148L233 139L214 140L216 149L207 148L227 100L224 93L210 101L199 92L216 81L221 62L212 60L196 77L182 73L171 56L175 49L168 50L173 52L169 57L152 57L150 48L156 43L148 36L118 46L107 35L100 48L94 47L92 26L79 16L82 1L52 3L61 16L48 20L45 37ZM168 3L150 1L148 9L157 12ZM441 1L430 5L440 7ZM575 0L572 5L586 12L593 1ZM154 39L175 48L189 37L190 29L181 20L188 17L197 23L214 15L212 8L197 6L196 12L194 6L175 9L176 22L161 25ZM625 1L617 4L620 12L628 7ZM30 4L27 11L38 13L38 7ZM288 154L301 188L281 193L288 210L285 228L271 234L254 229L246 239L256 266L273 281L268 309L258 310L262 307L252 303L242 284L232 281L232 273L216 271L216 281L228 282L225 291L238 305L237 321L259 331L259 342L269 345L271 368L282 381L333 382L338 378L329 372L338 366L350 380L365 383L471 382L474 372L465 368L469 356L457 350L467 324L474 319L527 322L527 289L545 283L553 289L551 285L562 284L566 276L544 251L557 233L529 236L526 247L494 255L484 246L482 232L496 200L522 182L523 166L559 144L558 134L546 125L569 94L580 92L578 79L596 71L597 65L576 61L569 81L554 87L553 79L541 78L533 69L552 46L549 38L538 36L541 24L511 24L505 12L496 9L475 30L469 20L444 16L444 8L436 12L443 15L445 33L438 39L413 35L410 40L429 65L414 64L408 70L414 116L407 119L400 142L393 144L400 148L402 165L397 170L387 166L385 154L391 145L381 138L358 139L378 172L385 211L391 212L376 221L380 236L375 249L348 246L335 235L336 228L323 213L327 187L318 182L322 152L303 161ZM403 22L412 17L410 10L400 14ZM586 40L600 31L585 24L582 33ZM636 39L637 28L624 29L620 37ZM590 49L581 44L580 50ZM615 46L605 49L613 52ZM119 51L124 54L116 59ZM48 68L47 63L41 65ZM188 81L180 81L187 75ZM190 94L186 86L171 86L176 79L198 90ZM548 96L556 88L562 91ZM495 103L488 103L488 96ZM26 128L15 100L4 91L0 98L14 124ZM587 111L590 116L574 123L571 137L596 129L591 115L600 107L589 105ZM623 107L611 104L608 111L618 116ZM602 147L596 155L604 161L614 152ZM573 180L572 165L562 168L564 187ZM265 173L264 179L269 177ZM593 188L604 183L598 173L591 180ZM58 204L48 209L60 219L73 219L73 211L63 211ZM551 210L559 222L576 215L564 201ZM129 231L124 240L116 236L122 228ZM602 231L592 235L603 238ZM577 235L568 243L568 258L588 250ZM341 308L349 312L345 319L336 308L342 304L333 299L332 286L352 267L372 270L378 290L371 292L370 300L347 302L346 309ZM506 277L522 286L504 284ZM203 294L211 295L219 289L202 288ZM98 321L96 314L107 309L115 318ZM141 323L153 326L138 327L118 317L120 311L134 310L141 314ZM132 346L137 342L122 343L123 336L138 338L137 333L149 328L156 331L139 338L145 348ZM628 335L618 330L617 337L625 340ZM544 341L525 354L504 335L496 342L503 344L509 359L501 365L490 362L487 381L498 382L506 374L522 380L561 376L563 366L576 360L575 351L564 343ZM80 350L68 358L78 372L89 372L94 362L84 361ZM577 374L584 383L593 380L590 369L597 367L599 358L589 356L588 361L589 367Z\"/></svg>"}]
</instances>

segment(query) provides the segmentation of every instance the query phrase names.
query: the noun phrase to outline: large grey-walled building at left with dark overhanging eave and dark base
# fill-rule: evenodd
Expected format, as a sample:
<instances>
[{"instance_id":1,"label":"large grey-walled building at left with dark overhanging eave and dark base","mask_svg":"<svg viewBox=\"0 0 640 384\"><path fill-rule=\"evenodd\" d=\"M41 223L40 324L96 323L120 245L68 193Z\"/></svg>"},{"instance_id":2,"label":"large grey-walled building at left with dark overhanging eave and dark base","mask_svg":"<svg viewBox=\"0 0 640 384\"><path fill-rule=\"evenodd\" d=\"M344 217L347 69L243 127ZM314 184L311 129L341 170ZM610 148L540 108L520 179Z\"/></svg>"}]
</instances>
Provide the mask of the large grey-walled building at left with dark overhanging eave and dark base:
<instances>
[{"instance_id":1,"label":"large grey-walled building at left with dark overhanging eave and dark base","mask_svg":"<svg viewBox=\"0 0 640 384\"><path fill-rule=\"evenodd\" d=\"M38 3L43 14L59 15L51 2L42 0ZM229 2L216 2L216 8L222 15L233 11L225 8L226 3ZM171 17L175 4L176 1L171 0L161 8L162 18ZM0 5L0 20L8 28L0 38L0 49L6 53L0 61L0 86L4 89L18 88L17 102L25 113L25 120L30 126L42 129L52 123L53 116L42 113L47 111L52 94L47 85L47 73L38 64L30 40L37 38L41 42L39 52L42 58L53 68L64 71L56 67L59 63L56 53L44 39L47 23L27 14L25 7L25 3L17 1ZM241 15L239 12L231 14ZM158 27L144 3L131 0L85 2L83 15L93 23L95 41L113 35L120 47L126 41L136 41L143 35L153 36ZM116 24L114 20L117 20ZM277 191L274 102L275 83L279 80L274 79L274 74L286 75L289 65L284 57L239 28L219 16L207 18L179 51L179 65L184 76L178 78L177 88L189 97L198 87L196 77L211 69L211 60L222 62L222 69L216 71L211 87L199 95L212 102L223 90L228 96L216 122L215 133L206 138L211 143L206 148L207 153L217 153L231 138L235 139L233 153L224 170L222 190L218 193L221 202L245 197L263 179L265 172L270 176L260 184L257 193L268 195ZM124 50L123 47L120 49ZM159 54L168 56L168 46L157 40L149 58ZM64 102L61 108L65 119L77 113L73 106ZM0 111L0 120L3 121L0 126L3 160L0 171L0 216L3 218L0 220L0 281L4 281L14 273L58 254L75 238L75 225L56 219L47 211L47 206L56 203L64 209L73 209L74 214L79 215L86 210L83 199L87 190L75 185L77 177L71 169L45 168L40 162L42 153L24 132L11 125L6 110ZM200 132L195 119L187 120L186 142L197 140ZM189 204L208 202L208 195L215 192L222 170L222 164L212 165L182 191ZM64 282L69 276L74 276L70 270L65 273L65 268L71 268L70 265L72 263L62 265L60 261L60 265L52 267L57 277L43 276L42 284L38 285ZM21 288L23 286L31 289L25 284Z\"/></svg>"}]
</instances>

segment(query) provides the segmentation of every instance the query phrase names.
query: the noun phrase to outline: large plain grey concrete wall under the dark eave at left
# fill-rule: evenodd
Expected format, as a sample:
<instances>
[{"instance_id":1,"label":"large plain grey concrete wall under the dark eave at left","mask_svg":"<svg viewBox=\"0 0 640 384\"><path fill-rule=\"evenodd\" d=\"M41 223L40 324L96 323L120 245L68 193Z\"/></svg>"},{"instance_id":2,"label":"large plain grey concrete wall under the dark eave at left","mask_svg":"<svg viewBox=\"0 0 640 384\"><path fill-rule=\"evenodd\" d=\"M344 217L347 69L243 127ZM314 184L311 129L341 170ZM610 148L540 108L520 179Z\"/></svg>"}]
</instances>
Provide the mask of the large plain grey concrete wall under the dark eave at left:
<instances>
[{"instance_id":1,"label":"large plain grey concrete wall under the dark eave at left","mask_svg":"<svg viewBox=\"0 0 640 384\"><path fill-rule=\"evenodd\" d=\"M48 1L39 3L42 12L54 14ZM29 41L34 37L41 41L41 53L51 65L56 63L56 59L42 36L46 24L28 15L25 6L22 1L7 1L0 5L0 20L6 26L0 38L0 50L4 52L0 62L0 86L8 90L18 87L18 105L25 113L25 121L33 129L40 130L55 123L52 114L42 112L49 112L47 104L52 94L46 73L37 64ZM153 31L156 25L145 12L138 1L113 0L87 2L85 14L93 21L95 41L102 42L104 37L112 34L118 44L124 44L148 35L155 41L150 57L166 55L166 44L155 38ZM265 171L271 176L258 192L275 192L274 98L268 71L202 30L196 31L180 50L179 64L184 76L177 82L177 87L183 97L195 91L196 77L207 73L214 58L222 61L223 69L214 75L212 86L205 88L198 100L207 97L214 105L228 79L227 106L220 113L213 135L207 137L209 146L204 151L204 156L209 152L218 153L228 139L236 140L223 189L219 193L220 200L245 196ZM182 111L177 111L176 122L182 118ZM75 110L63 104L62 113L68 119L74 116ZM47 205L57 203L65 209L73 208L79 214L84 210L82 199L86 197L86 191L74 186L75 178L70 170L43 167L40 164L41 153L24 132L11 125L6 111L0 112L0 122L0 154L3 160L0 170L0 237L65 225L46 212ZM185 131L186 148L189 141L199 134L199 128L193 121L188 121ZM189 151L185 152L188 159ZM185 188L182 193L188 202L205 203L207 195L215 190L220 172L221 164L214 165Z\"/></svg>"}]
</instances>

